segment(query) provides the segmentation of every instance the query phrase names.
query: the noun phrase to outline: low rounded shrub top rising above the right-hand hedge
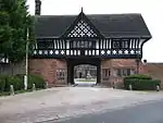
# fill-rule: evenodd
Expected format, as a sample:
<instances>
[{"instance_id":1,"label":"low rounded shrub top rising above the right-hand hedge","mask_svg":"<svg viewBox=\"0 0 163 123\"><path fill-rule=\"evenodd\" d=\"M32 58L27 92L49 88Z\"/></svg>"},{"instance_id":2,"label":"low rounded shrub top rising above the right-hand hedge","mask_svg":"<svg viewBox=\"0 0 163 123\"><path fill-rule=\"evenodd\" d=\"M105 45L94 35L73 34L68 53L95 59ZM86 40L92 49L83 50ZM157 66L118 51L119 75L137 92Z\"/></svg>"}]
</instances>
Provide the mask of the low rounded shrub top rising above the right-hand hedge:
<instances>
[{"instance_id":1,"label":"low rounded shrub top rising above the right-hand hedge","mask_svg":"<svg viewBox=\"0 0 163 123\"><path fill-rule=\"evenodd\" d=\"M125 78L152 79L151 76L143 75L143 74L133 74L133 75L126 76Z\"/></svg>"}]
</instances>

